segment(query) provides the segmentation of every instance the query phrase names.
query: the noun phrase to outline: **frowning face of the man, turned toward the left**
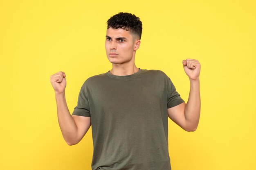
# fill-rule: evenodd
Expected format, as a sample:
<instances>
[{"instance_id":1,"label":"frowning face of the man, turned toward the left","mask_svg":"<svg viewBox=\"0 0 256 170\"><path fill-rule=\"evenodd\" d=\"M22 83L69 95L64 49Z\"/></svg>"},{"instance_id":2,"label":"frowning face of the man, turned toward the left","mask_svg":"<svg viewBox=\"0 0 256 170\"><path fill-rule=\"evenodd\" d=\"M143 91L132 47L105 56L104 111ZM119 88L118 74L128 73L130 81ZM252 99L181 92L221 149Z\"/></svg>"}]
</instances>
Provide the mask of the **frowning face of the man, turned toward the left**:
<instances>
[{"instance_id":1,"label":"frowning face of the man, turned toward the left","mask_svg":"<svg viewBox=\"0 0 256 170\"><path fill-rule=\"evenodd\" d=\"M135 52L139 48L140 40L132 36L126 29L107 29L105 48L110 63L123 64L134 62Z\"/></svg>"}]
</instances>

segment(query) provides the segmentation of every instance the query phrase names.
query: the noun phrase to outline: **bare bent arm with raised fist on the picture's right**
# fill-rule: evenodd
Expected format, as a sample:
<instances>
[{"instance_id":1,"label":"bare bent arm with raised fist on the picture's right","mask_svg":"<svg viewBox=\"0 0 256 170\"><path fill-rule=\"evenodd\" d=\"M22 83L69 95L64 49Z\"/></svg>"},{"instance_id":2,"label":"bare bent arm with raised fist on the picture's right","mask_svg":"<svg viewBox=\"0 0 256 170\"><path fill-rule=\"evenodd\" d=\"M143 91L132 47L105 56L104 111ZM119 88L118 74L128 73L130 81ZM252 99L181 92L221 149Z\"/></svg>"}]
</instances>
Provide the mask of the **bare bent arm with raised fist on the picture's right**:
<instances>
[{"instance_id":1,"label":"bare bent arm with raised fist on the picture's right","mask_svg":"<svg viewBox=\"0 0 256 170\"><path fill-rule=\"evenodd\" d=\"M199 74L201 65L198 60L182 61L183 68L190 81L190 92L187 104L185 102L168 109L168 116L185 131L195 131L200 117Z\"/></svg>"}]
</instances>

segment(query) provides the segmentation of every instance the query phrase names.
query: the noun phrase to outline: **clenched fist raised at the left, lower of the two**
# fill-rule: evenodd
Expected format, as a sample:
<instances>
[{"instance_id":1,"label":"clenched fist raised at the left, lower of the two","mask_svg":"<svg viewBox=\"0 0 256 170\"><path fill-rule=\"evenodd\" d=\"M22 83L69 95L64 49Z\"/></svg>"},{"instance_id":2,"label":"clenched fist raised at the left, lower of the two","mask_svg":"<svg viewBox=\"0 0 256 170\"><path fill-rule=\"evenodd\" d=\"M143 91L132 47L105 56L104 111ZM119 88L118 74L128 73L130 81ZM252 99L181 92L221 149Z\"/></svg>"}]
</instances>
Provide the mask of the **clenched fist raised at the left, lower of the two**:
<instances>
[{"instance_id":1,"label":"clenched fist raised at the left, lower of the two","mask_svg":"<svg viewBox=\"0 0 256 170\"><path fill-rule=\"evenodd\" d=\"M61 94L65 92L65 87L67 85L65 72L57 72L50 77L52 87L55 91L55 94Z\"/></svg>"}]
</instances>

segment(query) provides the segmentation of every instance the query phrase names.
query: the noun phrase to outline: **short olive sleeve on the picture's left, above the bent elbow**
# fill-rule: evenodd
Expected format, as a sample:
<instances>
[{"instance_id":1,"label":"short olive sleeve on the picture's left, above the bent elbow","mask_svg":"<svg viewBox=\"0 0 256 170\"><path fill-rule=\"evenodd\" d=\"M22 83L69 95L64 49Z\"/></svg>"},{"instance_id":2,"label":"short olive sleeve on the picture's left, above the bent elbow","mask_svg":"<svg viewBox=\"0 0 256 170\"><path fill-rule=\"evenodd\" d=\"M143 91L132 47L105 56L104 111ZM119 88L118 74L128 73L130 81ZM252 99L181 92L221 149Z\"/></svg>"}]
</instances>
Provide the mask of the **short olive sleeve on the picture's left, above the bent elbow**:
<instances>
[{"instance_id":1,"label":"short olive sleeve on the picture's left, above the bent elbow","mask_svg":"<svg viewBox=\"0 0 256 170\"><path fill-rule=\"evenodd\" d=\"M83 87L80 89L78 102L72 115L91 117L87 93L84 94Z\"/></svg>"}]
</instances>

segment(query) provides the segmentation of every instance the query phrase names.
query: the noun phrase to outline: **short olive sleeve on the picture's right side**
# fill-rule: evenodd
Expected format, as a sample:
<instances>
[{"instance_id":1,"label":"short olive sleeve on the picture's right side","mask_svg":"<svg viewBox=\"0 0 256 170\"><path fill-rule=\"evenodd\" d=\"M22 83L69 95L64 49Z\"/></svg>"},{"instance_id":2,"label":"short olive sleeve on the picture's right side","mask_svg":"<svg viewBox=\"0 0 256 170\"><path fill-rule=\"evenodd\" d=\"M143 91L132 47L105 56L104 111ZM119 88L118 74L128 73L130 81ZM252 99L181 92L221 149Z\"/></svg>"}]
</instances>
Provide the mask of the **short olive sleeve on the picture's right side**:
<instances>
[{"instance_id":1,"label":"short olive sleeve on the picture's right side","mask_svg":"<svg viewBox=\"0 0 256 170\"><path fill-rule=\"evenodd\" d=\"M176 91L170 78L168 78L167 83L167 108L175 107L183 103L184 100L180 97L180 94Z\"/></svg>"}]
</instances>

